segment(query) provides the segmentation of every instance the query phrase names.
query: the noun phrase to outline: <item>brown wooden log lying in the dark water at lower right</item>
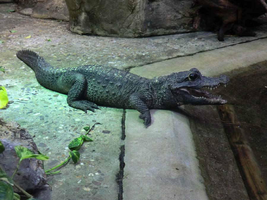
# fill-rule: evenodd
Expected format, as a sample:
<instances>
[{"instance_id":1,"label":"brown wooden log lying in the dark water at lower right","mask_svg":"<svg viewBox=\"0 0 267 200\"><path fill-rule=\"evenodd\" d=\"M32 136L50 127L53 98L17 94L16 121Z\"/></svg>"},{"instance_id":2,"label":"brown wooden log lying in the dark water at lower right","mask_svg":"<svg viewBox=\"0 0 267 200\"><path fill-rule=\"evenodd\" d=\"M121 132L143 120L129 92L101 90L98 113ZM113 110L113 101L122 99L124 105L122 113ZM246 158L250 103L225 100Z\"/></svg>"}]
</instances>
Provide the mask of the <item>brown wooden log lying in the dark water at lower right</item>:
<instances>
[{"instance_id":1,"label":"brown wooden log lying in the dark water at lower right","mask_svg":"<svg viewBox=\"0 0 267 200\"><path fill-rule=\"evenodd\" d=\"M266 184L233 106L220 105L219 113L250 199L267 200Z\"/></svg>"}]
</instances>

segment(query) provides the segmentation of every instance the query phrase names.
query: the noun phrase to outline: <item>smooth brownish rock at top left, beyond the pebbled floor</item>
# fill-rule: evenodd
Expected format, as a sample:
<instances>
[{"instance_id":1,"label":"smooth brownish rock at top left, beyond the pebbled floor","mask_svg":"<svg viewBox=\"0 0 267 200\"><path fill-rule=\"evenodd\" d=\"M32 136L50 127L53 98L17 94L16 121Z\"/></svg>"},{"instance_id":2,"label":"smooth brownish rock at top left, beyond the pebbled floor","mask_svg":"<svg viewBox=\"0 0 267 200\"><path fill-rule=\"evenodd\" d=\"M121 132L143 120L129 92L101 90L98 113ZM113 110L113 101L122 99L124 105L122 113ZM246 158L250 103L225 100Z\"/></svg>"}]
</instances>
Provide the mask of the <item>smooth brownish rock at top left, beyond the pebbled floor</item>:
<instances>
[{"instance_id":1,"label":"smooth brownish rock at top left, beyond the pebbled floor","mask_svg":"<svg viewBox=\"0 0 267 200\"><path fill-rule=\"evenodd\" d=\"M17 11L35 18L69 21L69 11L64 0L15 0Z\"/></svg>"}]
</instances>

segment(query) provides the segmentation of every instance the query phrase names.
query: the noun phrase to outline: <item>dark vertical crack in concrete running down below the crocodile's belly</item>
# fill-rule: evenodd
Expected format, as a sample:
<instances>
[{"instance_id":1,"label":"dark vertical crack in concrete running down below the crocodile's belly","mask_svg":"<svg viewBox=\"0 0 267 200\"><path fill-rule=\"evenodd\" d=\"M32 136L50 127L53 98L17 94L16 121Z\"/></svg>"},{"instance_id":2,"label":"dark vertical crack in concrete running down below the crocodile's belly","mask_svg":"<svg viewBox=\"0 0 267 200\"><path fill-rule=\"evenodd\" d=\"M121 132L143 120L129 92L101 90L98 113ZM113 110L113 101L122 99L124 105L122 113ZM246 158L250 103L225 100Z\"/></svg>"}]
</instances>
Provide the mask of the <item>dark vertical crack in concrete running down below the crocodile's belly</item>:
<instances>
[{"instance_id":1,"label":"dark vertical crack in concrete running down below the crocodile's belly","mask_svg":"<svg viewBox=\"0 0 267 200\"><path fill-rule=\"evenodd\" d=\"M120 170L117 174L117 182L119 185L119 190L118 190L118 200L123 200L123 173L124 173L124 153L125 153L125 146L124 146L124 140L125 140L125 114L126 110L123 109L123 116L121 119L121 140L122 140L122 145L120 146Z\"/></svg>"}]
</instances>

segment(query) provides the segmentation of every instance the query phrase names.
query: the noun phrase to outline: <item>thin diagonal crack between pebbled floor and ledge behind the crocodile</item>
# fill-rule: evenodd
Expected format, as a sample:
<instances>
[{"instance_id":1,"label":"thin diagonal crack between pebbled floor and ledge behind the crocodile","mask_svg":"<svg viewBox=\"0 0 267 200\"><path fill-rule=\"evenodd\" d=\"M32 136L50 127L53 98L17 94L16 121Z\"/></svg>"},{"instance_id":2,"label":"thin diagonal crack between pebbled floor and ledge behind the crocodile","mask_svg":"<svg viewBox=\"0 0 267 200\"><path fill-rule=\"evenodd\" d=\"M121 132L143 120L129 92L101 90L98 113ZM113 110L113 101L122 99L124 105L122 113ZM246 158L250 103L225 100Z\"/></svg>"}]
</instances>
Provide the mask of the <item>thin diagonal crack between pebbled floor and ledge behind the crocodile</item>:
<instances>
[{"instance_id":1,"label":"thin diagonal crack between pebbled floor and ledge behind the crocodile","mask_svg":"<svg viewBox=\"0 0 267 200\"><path fill-rule=\"evenodd\" d=\"M229 45L224 46L224 47L217 47L217 48L214 48L214 49L207 49L207 50L203 50L203 51L198 51L198 52L195 52L195 53L192 53L192 54L178 55L178 56L175 56L175 57L170 57L170 58L159 60L159 61L156 61L156 62L148 62L148 63L145 63L144 65L150 65L150 64L162 62L162 61L165 61L165 60L171 60L171 59L179 58L179 57L192 56L192 55L196 55L197 53L203 53L203 52L213 51L213 50L216 50L216 49L222 49L222 48L226 48L226 47L233 47L233 46L235 46L237 44L244 44L244 43L248 43L248 42L252 42L252 41L256 41L256 40L260 40L260 39L266 39L266 38L267 38L267 36L266 37L261 37L261 38L256 38L256 39L249 40L249 41L239 42L239 43L236 43L236 44L229 44ZM129 71L130 69L133 69L133 68L136 68L136 67L142 67L144 65L129 66L128 68L125 68L125 70Z\"/></svg>"}]
</instances>

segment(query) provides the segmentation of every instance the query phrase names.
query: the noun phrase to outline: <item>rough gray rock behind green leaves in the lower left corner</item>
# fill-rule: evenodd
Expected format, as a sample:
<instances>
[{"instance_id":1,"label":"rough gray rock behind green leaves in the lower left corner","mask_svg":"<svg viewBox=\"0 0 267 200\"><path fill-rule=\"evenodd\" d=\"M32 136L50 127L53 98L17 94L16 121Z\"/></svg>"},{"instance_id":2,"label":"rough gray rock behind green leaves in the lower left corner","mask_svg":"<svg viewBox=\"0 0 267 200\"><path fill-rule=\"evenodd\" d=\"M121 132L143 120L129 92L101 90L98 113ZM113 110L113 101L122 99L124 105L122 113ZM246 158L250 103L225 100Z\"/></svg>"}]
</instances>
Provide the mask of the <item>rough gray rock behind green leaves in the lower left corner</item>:
<instances>
[{"instance_id":1,"label":"rough gray rock behind green leaves in the lower left corner","mask_svg":"<svg viewBox=\"0 0 267 200\"><path fill-rule=\"evenodd\" d=\"M26 129L14 121L4 122L0 118L0 140L5 151L0 153L0 164L7 175L11 176L18 163L14 147L21 145L38 154L38 149L31 135ZM24 190L43 188L46 184L46 175L42 167L42 161L36 159L24 159L21 161L14 179ZM16 191L16 188L15 188Z\"/></svg>"}]
</instances>

